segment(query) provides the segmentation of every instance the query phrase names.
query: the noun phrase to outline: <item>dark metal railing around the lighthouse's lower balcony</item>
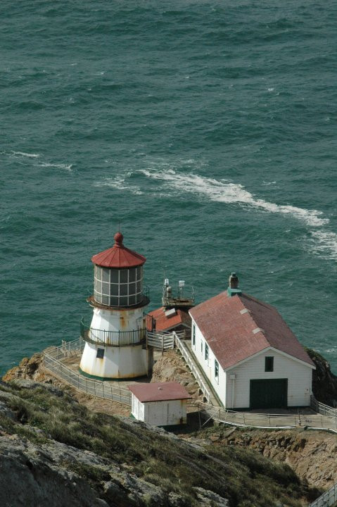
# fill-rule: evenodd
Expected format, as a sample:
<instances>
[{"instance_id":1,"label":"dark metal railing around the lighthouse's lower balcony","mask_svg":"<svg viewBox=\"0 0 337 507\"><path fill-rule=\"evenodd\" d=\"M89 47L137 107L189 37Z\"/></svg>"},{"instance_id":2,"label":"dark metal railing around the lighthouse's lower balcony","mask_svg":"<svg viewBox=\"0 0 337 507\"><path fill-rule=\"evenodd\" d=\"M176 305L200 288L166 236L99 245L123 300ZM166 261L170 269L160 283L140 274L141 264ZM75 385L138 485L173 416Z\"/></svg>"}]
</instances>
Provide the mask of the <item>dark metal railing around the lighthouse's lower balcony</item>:
<instances>
[{"instance_id":1,"label":"dark metal railing around the lighthouse's lower balcony","mask_svg":"<svg viewBox=\"0 0 337 507\"><path fill-rule=\"evenodd\" d=\"M136 345L146 339L145 328L133 331L97 330L90 326L90 321L85 317L80 323L80 334L86 342L110 346Z\"/></svg>"}]
</instances>

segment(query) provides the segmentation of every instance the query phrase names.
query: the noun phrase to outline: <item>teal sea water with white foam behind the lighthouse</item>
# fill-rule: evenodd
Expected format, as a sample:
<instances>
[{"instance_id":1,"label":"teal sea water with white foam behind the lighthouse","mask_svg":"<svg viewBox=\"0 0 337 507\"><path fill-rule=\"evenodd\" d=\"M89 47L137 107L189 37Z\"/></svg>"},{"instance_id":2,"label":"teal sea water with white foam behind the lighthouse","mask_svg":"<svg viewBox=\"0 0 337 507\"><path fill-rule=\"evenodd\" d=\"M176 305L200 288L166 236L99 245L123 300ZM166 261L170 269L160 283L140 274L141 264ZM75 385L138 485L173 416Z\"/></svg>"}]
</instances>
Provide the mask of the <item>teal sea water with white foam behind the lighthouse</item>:
<instances>
[{"instance_id":1,"label":"teal sea water with white foam behind the lighthouse","mask_svg":"<svg viewBox=\"0 0 337 507\"><path fill-rule=\"evenodd\" d=\"M337 372L331 0L0 6L1 373L75 339L90 258L275 305Z\"/></svg>"}]
</instances>

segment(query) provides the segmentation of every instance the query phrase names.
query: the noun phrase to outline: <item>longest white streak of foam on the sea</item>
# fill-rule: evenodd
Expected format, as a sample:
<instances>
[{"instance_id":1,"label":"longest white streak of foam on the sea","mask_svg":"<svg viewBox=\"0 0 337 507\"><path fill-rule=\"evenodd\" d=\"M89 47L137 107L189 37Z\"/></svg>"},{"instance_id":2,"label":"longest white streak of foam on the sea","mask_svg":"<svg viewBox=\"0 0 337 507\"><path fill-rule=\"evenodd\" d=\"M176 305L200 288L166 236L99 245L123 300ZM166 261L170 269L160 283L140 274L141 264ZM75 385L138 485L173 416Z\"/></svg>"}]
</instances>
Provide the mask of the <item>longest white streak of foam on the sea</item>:
<instances>
[{"instance_id":1,"label":"longest white streak of foam on the sea","mask_svg":"<svg viewBox=\"0 0 337 507\"><path fill-rule=\"evenodd\" d=\"M238 203L254 208L260 208L269 213L282 213L302 220L307 225L319 227L329 223L328 218L322 218L322 211L307 210L291 205L280 205L255 199L242 184L232 183L228 180L214 180L194 174L182 175L172 169L154 171L151 169L141 170L141 173L154 180L162 180L169 187L179 192L191 192L199 196L207 196L211 201L224 203Z\"/></svg>"}]
</instances>

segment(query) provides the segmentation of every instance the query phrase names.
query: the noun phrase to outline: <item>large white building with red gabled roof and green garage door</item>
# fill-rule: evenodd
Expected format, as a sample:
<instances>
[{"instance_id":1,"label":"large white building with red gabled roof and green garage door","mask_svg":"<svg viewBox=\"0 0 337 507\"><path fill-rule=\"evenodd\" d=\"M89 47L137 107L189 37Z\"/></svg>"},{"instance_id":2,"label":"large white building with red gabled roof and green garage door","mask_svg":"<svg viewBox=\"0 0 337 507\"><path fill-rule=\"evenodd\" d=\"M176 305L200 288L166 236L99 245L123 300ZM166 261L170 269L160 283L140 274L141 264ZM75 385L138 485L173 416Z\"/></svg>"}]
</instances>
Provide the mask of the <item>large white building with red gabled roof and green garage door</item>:
<instances>
[{"instance_id":1,"label":"large white building with red gabled roof and green garage door","mask_svg":"<svg viewBox=\"0 0 337 507\"><path fill-rule=\"evenodd\" d=\"M227 291L192 308L191 346L226 408L310 406L314 363L273 306Z\"/></svg>"}]
</instances>

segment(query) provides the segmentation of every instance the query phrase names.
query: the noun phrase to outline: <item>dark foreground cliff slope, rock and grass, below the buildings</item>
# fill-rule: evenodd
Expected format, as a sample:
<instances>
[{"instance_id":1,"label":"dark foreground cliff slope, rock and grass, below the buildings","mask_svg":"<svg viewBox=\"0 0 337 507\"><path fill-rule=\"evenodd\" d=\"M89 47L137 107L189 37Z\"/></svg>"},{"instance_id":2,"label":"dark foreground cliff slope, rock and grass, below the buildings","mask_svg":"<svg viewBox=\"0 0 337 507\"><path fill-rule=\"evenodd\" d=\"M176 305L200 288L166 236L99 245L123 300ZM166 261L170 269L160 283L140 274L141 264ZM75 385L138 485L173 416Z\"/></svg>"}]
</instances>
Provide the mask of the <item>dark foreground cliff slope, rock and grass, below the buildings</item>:
<instances>
[{"instance_id":1,"label":"dark foreground cliff slope, rock and grass, below the buildings","mask_svg":"<svg viewBox=\"0 0 337 507\"><path fill-rule=\"evenodd\" d=\"M0 384L1 507L302 506L298 476L257 451L185 442L94 413L50 384Z\"/></svg>"}]
</instances>

